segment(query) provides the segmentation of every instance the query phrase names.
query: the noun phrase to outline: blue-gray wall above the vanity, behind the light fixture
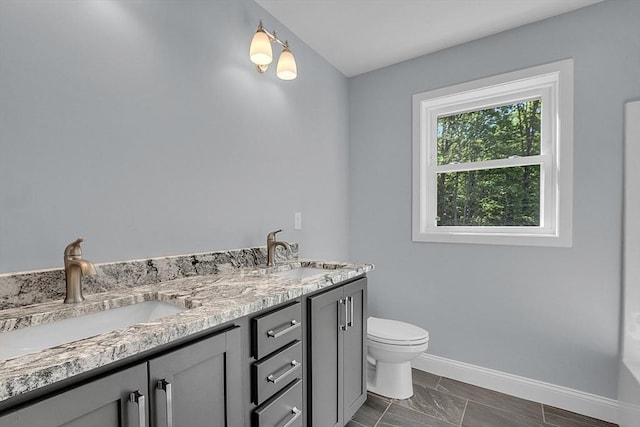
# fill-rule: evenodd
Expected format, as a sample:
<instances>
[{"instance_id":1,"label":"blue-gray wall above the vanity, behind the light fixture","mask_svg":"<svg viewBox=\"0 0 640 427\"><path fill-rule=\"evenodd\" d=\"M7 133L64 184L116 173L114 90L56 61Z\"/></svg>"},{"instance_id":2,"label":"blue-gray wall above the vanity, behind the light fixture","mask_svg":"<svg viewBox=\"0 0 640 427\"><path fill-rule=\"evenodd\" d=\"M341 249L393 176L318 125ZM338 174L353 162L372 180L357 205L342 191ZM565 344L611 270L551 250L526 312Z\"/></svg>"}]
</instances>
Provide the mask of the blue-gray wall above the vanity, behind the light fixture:
<instances>
[{"instance_id":1,"label":"blue-gray wall above the vanity, behind the light fixture","mask_svg":"<svg viewBox=\"0 0 640 427\"><path fill-rule=\"evenodd\" d=\"M260 18L297 80L249 62ZM0 2L0 272L59 267L77 236L106 262L276 228L346 259L347 155L347 79L253 1Z\"/></svg>"}]
</instances>

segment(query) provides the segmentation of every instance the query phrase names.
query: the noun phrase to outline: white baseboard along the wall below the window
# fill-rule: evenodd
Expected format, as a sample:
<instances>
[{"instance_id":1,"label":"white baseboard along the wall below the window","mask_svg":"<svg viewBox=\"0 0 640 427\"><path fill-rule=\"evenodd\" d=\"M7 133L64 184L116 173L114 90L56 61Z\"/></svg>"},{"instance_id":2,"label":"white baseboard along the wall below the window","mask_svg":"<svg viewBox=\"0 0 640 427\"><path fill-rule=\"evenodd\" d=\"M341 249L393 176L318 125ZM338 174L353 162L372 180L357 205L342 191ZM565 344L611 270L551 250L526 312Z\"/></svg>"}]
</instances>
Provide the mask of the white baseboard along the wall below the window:
<instances>
[{"instance_id":1,"label":"white baseboard along the wall below the window","mask_svg":"<svg viewBox=\"0 0 640 427\"><path fill-rule=\"evenodd\" d=\"M518 375L482 368L469 363L423 353L412 366L420 371L462 381L522 399L618 423L620 404L617 400L597 396Z\"/></svg>"}]
</instances>

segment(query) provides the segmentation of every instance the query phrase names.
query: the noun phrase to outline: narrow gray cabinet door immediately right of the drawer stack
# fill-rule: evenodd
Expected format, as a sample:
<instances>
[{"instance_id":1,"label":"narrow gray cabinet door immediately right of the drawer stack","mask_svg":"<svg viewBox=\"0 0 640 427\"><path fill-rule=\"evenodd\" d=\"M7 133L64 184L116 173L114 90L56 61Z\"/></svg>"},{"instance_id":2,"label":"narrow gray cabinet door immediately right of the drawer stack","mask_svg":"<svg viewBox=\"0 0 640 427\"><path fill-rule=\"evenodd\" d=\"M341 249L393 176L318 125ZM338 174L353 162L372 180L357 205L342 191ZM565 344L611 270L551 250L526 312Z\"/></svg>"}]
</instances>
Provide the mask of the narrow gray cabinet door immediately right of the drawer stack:
<instances>
[{"instance_id":1,"label":"narrow gray cabinet door immediately right of the drawer stack","mask_svg":"<svg viewBox=\"0 0 640 427\"><path fill-rule=\"evenodd\" d=\"M342 426L342 333L344 304L339 287L309 297L308 410L310 427Z\"/></svg>"}]
</instances>

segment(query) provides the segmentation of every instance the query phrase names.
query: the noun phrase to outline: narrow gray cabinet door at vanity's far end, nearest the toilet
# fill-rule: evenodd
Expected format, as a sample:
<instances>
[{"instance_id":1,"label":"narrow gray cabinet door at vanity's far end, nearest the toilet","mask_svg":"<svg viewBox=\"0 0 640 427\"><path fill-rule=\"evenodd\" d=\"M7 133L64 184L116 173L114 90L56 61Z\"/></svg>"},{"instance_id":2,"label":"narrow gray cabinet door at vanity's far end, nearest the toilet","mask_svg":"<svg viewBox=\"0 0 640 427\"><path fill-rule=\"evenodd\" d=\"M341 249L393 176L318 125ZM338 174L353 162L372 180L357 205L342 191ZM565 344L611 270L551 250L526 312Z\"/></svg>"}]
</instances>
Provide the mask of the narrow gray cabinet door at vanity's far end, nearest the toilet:
<instances>
[{"instance_id":1,"label":"narrow gray cabinet door at vanity's far end, nearest the toilet","mask_svg":"<svg viewBox=\"0 0 640 427\"><path fill-rule=\"evenodd\" d=\"M347 329L343 339L344 423L367 399L367 279L344 286L348 305Z\"/></svg>"}]
</instances>

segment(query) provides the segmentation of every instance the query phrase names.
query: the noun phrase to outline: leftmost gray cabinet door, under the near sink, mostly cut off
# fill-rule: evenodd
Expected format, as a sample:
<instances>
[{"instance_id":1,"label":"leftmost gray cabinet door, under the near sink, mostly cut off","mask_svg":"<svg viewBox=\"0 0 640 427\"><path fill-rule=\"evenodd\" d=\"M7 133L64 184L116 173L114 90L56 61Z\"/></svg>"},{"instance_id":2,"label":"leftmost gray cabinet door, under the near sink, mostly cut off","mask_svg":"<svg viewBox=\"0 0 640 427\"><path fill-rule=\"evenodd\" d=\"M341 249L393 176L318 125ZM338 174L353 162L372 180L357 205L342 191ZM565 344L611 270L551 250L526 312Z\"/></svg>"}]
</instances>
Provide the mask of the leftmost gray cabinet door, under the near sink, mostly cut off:
<instances>
[{"instance_id":1,"label":"leftmost gray cabinet door, under the near sink, mostly cut off","mask_svg":"<svg viewBox=\"0 0 640 427\"><path fill-rule=\"evenodd\" d=\"M138 392L144 399L140 399L139 403L130 402L129 395L133 392ZM140 427L140 421L143 421L146 427L146 402L147 367L146 363L142 363L3 416L0 425Z\"/></svg>"}]
</instances>

